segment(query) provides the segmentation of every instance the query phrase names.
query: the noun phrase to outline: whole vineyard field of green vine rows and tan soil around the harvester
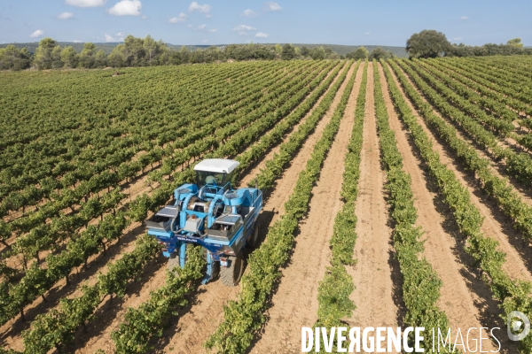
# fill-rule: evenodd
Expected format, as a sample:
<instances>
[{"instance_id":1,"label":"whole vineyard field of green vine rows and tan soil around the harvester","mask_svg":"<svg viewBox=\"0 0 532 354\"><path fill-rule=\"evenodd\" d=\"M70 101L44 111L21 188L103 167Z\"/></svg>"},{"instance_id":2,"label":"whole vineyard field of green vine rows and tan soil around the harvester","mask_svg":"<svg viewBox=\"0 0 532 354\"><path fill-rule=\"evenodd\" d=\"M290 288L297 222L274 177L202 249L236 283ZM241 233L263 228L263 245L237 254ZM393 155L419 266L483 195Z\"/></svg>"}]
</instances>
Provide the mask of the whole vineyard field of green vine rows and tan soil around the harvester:
<instances>
[{"instance_id":1,"label":"whole vineyard field of green vine rows and tan soil around the harvester","mask_svg":"<svg viewBox=\"0 0 532 354\"><path fill-rule=\"evenodd\" d=\"M498 327L482 350L532 352L506 335L509 313L532 319L531 73L528 56L1 72L0 354L296 353L301 327ZM146 234L205 158L264 196L236 287L201 283L196 245L169 271Z\"/></svg>"}]
</instances>

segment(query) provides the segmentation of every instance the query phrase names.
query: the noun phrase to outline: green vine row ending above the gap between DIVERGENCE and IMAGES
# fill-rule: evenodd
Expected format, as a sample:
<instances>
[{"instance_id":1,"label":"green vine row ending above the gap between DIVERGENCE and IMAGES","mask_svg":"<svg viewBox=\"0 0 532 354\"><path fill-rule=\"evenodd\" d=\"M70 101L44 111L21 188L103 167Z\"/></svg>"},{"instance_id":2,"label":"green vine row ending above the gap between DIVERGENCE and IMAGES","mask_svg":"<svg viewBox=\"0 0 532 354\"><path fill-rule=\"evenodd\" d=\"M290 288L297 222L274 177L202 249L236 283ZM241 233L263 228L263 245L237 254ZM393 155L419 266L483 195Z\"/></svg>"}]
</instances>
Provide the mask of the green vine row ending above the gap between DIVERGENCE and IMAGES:
<instances>
[{"instance_id":1,"label":"green vine row ending above the gap between DIVERGENCE and IMAGES","mask_svg":"<svg viewBox=\"0 0 532 354\"><path fill-rule=\"evenodd\" d=\"M411 176L403 171L403 158L397 148L395 132L388 122L388 115L377 62L373 62L373 87L377 131L383 165L387 173L385 188L391 216L395 221L394 248L403 275L403 301L407 312L404 325L407 327L442 328L447 331L449 319L437 305L442 280L433 266L422 257L425 250L419 241L423 230L416 226L418 212L414 206ZM426 352L433 352L431 336L425 337ZM413 338L411 338L413 340ZM443 349L442 349L443 350ZM443 352L443 351L441 351ZM447 351L445 351L447 352Z\"/></svg>"}]
</instances>

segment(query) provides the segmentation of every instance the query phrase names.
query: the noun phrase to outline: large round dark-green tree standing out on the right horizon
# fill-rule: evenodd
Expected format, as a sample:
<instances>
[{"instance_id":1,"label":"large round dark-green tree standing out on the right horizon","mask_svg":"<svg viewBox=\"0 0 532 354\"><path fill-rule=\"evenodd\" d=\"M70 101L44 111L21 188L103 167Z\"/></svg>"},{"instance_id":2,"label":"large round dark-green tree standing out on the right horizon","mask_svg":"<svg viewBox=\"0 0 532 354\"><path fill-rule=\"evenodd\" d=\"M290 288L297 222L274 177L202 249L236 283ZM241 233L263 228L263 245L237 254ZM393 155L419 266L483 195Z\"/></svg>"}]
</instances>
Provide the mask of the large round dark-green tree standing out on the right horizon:
<instances>
[{"instance_id":1,"label":"large round dark-green tree standing out on the right horizon","mask_svg":"<svg viewBox=\"0 0 532 354\"><path fill-rule=\"evenodd\" d=\"M447 37L434 29L424 29L406 41L406 51L411 58L436 58L445 55L448 50L450 42Z\"/></svg>"}]
</instances>

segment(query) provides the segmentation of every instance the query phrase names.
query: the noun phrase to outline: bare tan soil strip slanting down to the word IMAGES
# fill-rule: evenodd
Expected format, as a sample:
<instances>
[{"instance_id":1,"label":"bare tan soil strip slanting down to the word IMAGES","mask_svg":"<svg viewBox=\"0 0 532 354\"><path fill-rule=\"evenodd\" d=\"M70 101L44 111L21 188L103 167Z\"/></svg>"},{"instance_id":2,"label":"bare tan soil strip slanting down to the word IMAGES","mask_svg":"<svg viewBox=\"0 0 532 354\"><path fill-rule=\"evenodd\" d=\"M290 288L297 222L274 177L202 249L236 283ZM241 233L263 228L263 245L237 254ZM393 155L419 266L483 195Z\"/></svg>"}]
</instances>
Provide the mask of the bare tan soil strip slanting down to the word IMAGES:
<instances>
[{"instance_id":1,"label":"bare tan soil strip slanting down to the word IMAGES","mask_svg":"<svg viewBox=\"0 0 532 354\"><path fill-rule=\"evenodd\" d=\"M465 254L455 236L457 227L442 215L442 201L437 191L426 183L426 173L419 157L412 153L409 134L395 113L394 105L387 90L387 82L379 65L380 84L387 105L390 127L395 131L397 147L403 157L403 170L411 175L414 206L418 211L417 226L425 234L424 256L442 279L441 296L438 307L445 312L451 328L482 327L480 321L486 300L471 291L478 287L479 280L471 277L464 264ZM443 212L445 214L445 212ZM466 258L469 260L469 258ZM489 303L493 306L493 302ZM473 348L474 342L471 342ZM494 350L492 348L491 350Z\"/></svg>"}]
</instances>

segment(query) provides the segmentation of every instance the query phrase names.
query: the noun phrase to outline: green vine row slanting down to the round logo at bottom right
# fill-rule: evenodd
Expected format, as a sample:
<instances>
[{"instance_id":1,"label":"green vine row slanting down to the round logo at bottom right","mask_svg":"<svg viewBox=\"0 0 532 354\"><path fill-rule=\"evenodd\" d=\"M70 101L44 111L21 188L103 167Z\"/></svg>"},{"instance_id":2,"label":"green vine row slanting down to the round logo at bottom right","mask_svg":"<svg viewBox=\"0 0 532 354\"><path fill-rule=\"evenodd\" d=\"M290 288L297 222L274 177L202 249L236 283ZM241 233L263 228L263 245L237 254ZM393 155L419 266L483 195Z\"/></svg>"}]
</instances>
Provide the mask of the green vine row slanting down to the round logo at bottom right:
<instances>
[{"instance_id":1,"label":"green vine row slanting down to the round logo at bottom right","mask_svg":"<svg viewBox=\"0 0 532 354\"><path fill-rule=\"evenodd\" d=\"M411 97L414 104L423 102L419 93L406 79L395 62L392 60L389 64L394 69L395 74L403 85L403 89ZM471 203L469 191L460 184L454 173L446 165L442 164L439 155L432 148L432 141L404 102L402 93L395 85L387 65L383 66L395 108L401 119L409 127L428 171L434 176L445 203L452 210L453 219L458 229L466 236L465 251L476 260L475 266L483 272L482 280L489 287L492 295L500 301L500 306L505 312L504 319L512 311L520 311L527 316L532 316L531 284L528 281L512 279L505 272L502 267L505 263L505 254L497 250L497 241L483 235L481 232L482 218L478 209ZM426 107L425 103L424 107ZM431 120L429 118L437 118L434 113L428 114L432 110L427 107L420 109L419 112L428 121ZM456 135L455 139L457 139ZM532 338L527 337L520 341L518 347L520 352L529 353L532 350Z\"/></svg>"}]
</instances>

